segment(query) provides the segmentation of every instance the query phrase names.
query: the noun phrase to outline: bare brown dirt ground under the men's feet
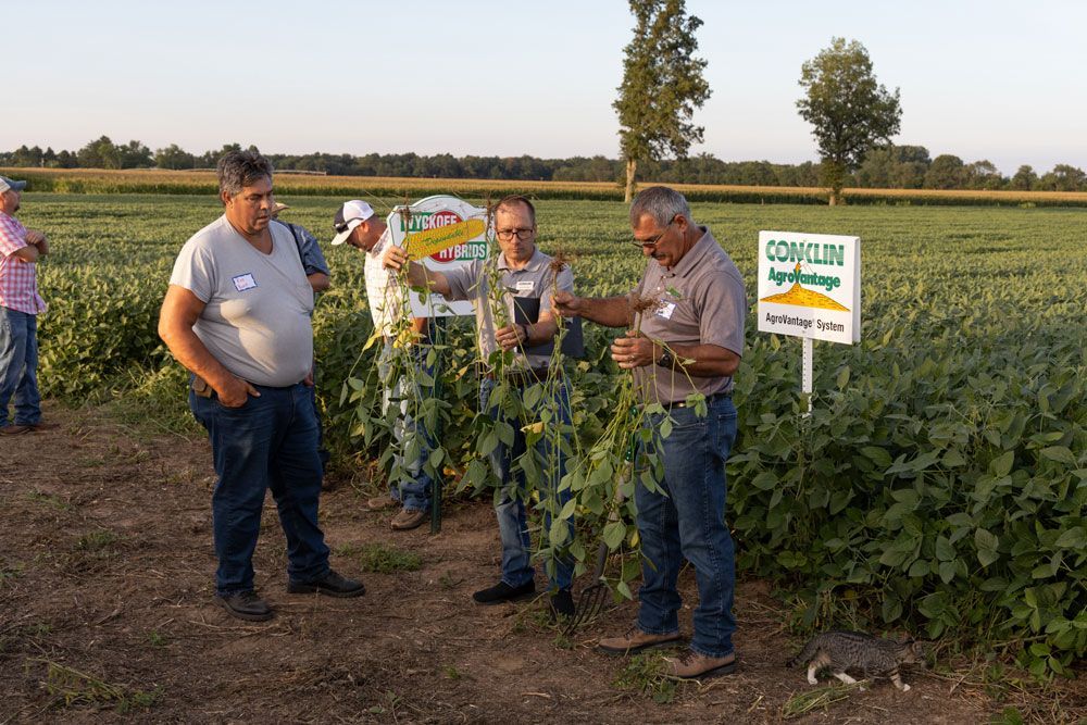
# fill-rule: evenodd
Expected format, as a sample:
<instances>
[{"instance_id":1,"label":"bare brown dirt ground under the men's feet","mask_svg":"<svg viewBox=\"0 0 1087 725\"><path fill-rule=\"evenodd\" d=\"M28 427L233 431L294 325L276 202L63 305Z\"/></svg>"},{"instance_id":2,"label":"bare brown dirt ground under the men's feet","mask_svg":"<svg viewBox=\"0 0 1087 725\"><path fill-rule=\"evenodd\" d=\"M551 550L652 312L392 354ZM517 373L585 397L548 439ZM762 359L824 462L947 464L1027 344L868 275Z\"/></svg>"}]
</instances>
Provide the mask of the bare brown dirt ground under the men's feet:
<instances>
[{"instance_id":1,"label":"bare brown dirt ground under the men's feet","mask_svg":"<svg viewBox=\"0 0 1087 725\"><path fill-rule=\"evenodd\" d=\"M333 565L360 575L366 595L287 595L270 502L255 565L276 617L234 620L212 601L207 442L138 433L100 409L47 415L62 427L0 439L0 723L767 723L813 689L783 664L800 642L761 582L738 586L735 675L673 684L663 704L621 689L624 660L592 646L623 632L635 604L572 641L542 601L476 607L471 593L497 580L499 563L487 504L449 504L438 535L395 534L388 515L365 512L371 491L347 482L323 497L322 522ZM421 566L363 573L367 543ZM682 587L696 601L689 572ZM1005 689L1003 701L977 670L905 679L909 692L876 683L796 722L978 723L1009 704L1028 720L1087 714L1083 676Z\"/></svg>"}]
</instances>

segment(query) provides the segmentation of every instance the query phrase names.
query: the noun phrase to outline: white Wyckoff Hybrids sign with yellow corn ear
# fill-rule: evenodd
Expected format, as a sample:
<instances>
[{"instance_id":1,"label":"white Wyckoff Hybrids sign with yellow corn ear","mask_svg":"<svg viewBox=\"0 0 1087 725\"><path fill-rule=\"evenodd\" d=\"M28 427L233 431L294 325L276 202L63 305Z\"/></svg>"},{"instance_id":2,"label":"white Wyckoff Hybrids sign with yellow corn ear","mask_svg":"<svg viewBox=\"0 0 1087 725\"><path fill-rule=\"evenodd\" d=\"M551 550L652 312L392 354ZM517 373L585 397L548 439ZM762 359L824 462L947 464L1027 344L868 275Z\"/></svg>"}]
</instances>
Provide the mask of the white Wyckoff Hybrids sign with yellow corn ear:
<instances>
[{"instance_id":1,"label":"white Wyckoff Hybrids sign with yellow corn ear","mask_svg":"<svg viewBox=\"0 0 1087 725\"><path fill-rule=\"evenodd\" d=\"M386 223L392 243L403 247L408 257L437 272L487 259L487 210L463 199L435 196L408 208L397 207ZM474 314L472 302L450 302L441 295L411 296L416 317Z\"/></svg>"}]
</instances>

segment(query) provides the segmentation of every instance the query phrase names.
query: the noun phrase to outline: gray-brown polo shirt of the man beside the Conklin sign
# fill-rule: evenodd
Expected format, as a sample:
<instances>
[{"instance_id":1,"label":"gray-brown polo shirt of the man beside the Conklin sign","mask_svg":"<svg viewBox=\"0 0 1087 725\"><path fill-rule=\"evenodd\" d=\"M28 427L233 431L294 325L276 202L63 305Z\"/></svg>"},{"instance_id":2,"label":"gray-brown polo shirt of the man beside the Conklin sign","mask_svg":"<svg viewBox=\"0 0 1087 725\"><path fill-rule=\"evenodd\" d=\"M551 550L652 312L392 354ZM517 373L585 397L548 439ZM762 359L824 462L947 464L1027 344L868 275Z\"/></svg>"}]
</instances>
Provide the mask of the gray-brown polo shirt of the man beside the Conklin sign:
<instances>
[{"instance_id":1,"label":"gray-brown polo shirt of the man beside the Conklin sign","mask_svg":"<svg viewBox=\"0 0 1087 725\"><path fill-rule=\"evenodd\" d=\"M641 297L658 300L646 310L641 332L646 337L675 345L715 345L744 353L744 324L748 301L744 277L708 228L671 270L650 261L638 286ZM695 377L648 365L634 372L646 402L683 402L698 390L707 396L733 389L733 378Z\"/></svg>"}]
</instances>

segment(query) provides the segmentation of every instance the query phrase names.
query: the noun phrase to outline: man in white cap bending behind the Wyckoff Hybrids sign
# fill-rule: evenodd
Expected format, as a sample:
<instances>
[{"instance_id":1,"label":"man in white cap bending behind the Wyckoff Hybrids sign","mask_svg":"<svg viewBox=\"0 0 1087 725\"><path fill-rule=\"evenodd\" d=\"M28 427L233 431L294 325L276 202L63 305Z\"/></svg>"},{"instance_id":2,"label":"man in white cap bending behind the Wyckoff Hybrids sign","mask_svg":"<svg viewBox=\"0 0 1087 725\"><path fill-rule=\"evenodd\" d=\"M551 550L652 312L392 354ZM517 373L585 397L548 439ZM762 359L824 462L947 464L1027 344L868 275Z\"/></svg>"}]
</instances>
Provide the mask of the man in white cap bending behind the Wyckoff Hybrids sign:
<instances>
[{"instance_id":1,"label":"man in white cap bending behind the Wyckoff Hybrids sign","mask_svg":"<svg viewBox=\"0 0 1087 725\"><path fill-rule=\"evenodd\" d=\"M371 499L366 502L366 507L371 511L382 511L399 505L400 513L390 524L392 529L400 532L416 528L426 521L430 511L430 497L435 491L435 480L426 472L425 466L433 439L427 430L421 429L422 426L416 429L414 421L407 415L404 386L408 382L403 378L391 379L397 373L392 370L392 328L400 318L400 292L392 274L382 264L382 253L392 243L391 235L385 221L374 214L368 203L360 200L348 201L340 207L336 211L333 226L336 228L333 245L347 243L366 253L364 272L370 313L374 320L374 329L380 330L385 337L385 346L377 363L378 376L385 386L384 404L387 407L393 399L400 400L401 412L404 413L400 418L401 424L393 428L398 448L402 448L403 439L409 432L422 434L418 459L403 468L405 477L401 477L400 480L396 477L390 478L389 495ZM415 317L412 321L421 342L429 338L429 323L428 317ZM426 357L427 347L420 345L413 351L412 360L417 370L434 379L436 371L433 366L426 365Z\"/></svg>"}]
</instances>

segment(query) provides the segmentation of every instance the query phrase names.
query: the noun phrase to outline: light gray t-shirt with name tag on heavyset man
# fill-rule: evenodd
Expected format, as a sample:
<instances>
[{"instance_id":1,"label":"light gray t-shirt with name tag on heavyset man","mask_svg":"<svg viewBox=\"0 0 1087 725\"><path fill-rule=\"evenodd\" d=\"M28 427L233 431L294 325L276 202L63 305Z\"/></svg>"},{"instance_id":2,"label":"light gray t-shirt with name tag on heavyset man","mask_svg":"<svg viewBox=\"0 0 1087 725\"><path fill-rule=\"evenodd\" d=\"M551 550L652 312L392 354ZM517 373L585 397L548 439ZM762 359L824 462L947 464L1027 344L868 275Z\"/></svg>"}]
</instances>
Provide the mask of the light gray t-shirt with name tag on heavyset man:
<instances>
[{"instance_id":1,"label":"light gray t-shirt with name tag on heavyset man","mask_svg":"<svg viewBox=\"0 0 1087 725\"><path fill-rule=\"evenodd\" d=\"M313 364L313 289L290 232L268 228L263 254L218 217L182 247L170 284L205 303L192 330L215 360L255 385L286 387Z\"/></svg>"}]
</instances>

